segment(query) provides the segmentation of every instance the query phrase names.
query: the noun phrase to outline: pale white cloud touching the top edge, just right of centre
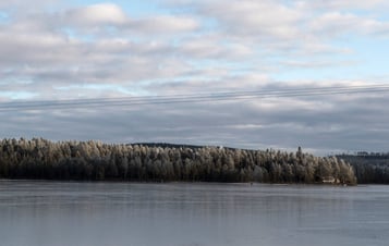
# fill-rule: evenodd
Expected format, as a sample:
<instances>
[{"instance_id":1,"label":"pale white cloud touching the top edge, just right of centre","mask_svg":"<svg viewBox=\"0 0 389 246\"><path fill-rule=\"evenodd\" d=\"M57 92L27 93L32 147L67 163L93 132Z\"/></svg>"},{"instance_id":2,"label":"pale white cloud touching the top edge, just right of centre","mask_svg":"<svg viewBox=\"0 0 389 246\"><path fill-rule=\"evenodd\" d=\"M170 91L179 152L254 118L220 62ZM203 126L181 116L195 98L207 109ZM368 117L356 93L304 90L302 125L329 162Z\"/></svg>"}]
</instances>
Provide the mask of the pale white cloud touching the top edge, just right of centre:
<instances>
[{"instance_id":1,"label":"pale white cloud touching the top edge, just right of centre","mask_svg":"<svg viewBox=\"0 0 389 246\"><path fill-rule=\"evenodd\" d=\"M297 10L276 1L232 0L209 1L199 7L208 17L216 19L230 35L259 37L265 39L295 38L301 21Z\"/></svg>"}]
</instances>

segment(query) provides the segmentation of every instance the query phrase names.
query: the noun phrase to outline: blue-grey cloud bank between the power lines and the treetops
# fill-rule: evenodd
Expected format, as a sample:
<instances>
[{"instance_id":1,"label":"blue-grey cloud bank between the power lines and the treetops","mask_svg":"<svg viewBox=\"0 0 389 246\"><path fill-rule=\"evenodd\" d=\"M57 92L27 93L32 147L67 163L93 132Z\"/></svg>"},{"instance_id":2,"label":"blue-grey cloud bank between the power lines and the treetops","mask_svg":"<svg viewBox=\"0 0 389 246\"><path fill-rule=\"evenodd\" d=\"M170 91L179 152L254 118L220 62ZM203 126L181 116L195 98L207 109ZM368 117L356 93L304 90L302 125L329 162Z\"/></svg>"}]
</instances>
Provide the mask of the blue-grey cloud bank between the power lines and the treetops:
<instances>
[{"instance_id":1,"label":"blue-grey cloud bank between the power lines and the treetops","mask_svg":"<svg viewBox=\"0 0 389 246\"><path fill-rule=\"evenodd\" d=\"M8 120L0 125L11 136L26 134L50 139L93 137L105 142L171 142L245 148L303 146L323 155L330 150L384 151L389 137L387 98L386 94L326 95L59 112L1 112L2 119Z\"/></svg>"}]
</instances>

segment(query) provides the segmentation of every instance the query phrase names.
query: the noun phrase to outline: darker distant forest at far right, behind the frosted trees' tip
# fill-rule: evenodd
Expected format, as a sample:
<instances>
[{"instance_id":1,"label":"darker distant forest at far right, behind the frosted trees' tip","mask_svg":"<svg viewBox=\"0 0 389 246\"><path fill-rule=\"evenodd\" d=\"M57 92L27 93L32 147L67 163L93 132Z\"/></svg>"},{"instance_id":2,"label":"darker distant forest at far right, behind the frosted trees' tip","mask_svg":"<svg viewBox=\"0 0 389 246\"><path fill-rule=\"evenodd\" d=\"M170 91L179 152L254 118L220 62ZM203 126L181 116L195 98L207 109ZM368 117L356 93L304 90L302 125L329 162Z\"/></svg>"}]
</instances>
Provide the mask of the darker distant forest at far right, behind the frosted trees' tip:
<instances>
[{"instance_id":1,"label":"darker distant forest at far right, behind the frosted trees' tip","mask_svg":"<svg viewBox=\"0 0 389 246\"><path fill-rule=\"evenodd\" d=\"M360 151L338 155L337 158L351 163L358 183L389 184L389 152Z\"/></svg>"}]
</instances>

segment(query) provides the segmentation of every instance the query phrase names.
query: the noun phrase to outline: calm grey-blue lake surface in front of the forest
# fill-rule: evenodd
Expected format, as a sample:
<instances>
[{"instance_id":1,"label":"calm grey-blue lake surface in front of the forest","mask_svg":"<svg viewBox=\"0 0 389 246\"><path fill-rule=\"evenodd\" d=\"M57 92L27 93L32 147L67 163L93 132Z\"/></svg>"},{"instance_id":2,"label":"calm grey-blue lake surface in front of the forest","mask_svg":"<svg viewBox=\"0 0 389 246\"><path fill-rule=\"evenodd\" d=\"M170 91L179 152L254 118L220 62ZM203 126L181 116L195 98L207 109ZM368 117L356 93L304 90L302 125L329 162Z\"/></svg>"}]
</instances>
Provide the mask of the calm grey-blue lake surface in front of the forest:
<instances>
[{"instance_id":1,"label":"calm grey-blue lake surface in front of the forest","mask_svg":"<svg viewBox=\"0 0 389 246\"><path fill-rule=\"evenodd\" d=\"M0 181L2 246L374 246L389 186Z\"/></svg>"}]
</instances>

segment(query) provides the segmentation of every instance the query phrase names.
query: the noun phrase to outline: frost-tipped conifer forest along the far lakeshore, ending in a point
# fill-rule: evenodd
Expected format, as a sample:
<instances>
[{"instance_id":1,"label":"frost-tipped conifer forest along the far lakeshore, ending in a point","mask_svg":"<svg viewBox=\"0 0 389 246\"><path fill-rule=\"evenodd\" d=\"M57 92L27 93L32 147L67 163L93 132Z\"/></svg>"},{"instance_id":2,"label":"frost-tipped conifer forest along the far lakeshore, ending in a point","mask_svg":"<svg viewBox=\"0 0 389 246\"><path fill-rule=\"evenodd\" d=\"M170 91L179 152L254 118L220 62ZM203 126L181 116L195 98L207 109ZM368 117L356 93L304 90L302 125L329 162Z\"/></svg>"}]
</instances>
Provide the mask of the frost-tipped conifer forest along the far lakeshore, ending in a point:
<instances>
[{"instance_id":1,"label":"frost-tipped conifer forest along the far lakeshore, ending in a point","mask_svg":"<svg viewBox=\"0 0 389 246\"><path fill-rule=\"evenodd\" d=\"M355 184L337 157L168 144L2 139L0 179ZM329 181L329 182L328 182Z\"/></svg>"}]
</instances>

